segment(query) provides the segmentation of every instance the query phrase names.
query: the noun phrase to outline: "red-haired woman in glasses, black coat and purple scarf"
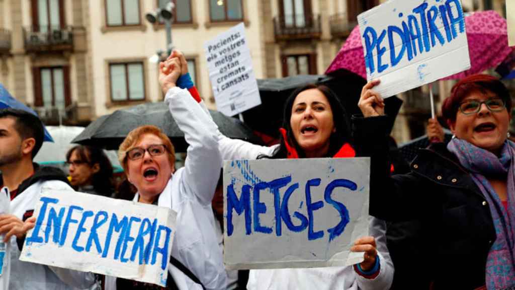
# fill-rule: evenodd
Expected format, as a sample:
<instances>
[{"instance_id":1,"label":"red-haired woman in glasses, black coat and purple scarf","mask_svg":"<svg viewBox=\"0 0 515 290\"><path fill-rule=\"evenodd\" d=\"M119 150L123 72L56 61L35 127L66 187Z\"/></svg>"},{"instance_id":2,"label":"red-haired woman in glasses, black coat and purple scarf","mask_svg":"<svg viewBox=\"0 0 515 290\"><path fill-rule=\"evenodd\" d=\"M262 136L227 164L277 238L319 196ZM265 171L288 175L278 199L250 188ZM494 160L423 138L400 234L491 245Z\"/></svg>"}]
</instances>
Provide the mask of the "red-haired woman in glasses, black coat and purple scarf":
<instances>
[{"instance_id":1,"label":"red-haired woman in glasses, black coat and purple scarf","mask_svg":"<svg viewBox=\"0 0 515 290\"><path fill-rule=\"evenodd\" d=\"M411 289L515 287L515 144L507 139L506 87L488 75L460 80L442 105L455 138L421 149L410 173L390 177L377 84L368 83L359 100L356 148L371 156L370 214L417 224L397 241L402 247L390 249L396 269L409 269L400 282Z\"/></svg>"}]
</instances>

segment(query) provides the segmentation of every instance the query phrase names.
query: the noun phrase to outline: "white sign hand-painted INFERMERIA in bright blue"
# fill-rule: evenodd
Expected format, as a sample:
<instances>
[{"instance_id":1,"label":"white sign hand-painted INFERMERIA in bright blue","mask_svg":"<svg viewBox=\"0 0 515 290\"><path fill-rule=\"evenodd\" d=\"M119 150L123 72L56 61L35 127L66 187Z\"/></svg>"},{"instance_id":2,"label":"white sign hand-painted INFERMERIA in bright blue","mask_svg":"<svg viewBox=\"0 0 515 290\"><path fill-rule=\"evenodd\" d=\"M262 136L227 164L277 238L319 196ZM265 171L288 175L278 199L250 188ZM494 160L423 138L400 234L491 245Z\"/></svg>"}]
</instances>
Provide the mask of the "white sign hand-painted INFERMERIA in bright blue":
<instances>
[{"instance_id":1,"label":"white sign hand-painted INFERMERIA in bright blue","mask_svg":"<svg viewBox=\"0 0 515 290\"><path fill-rule=\"evenodd\" d=\"M21 261L166 285L176 213L43 188Z\"/></svg>"}]
</instances>

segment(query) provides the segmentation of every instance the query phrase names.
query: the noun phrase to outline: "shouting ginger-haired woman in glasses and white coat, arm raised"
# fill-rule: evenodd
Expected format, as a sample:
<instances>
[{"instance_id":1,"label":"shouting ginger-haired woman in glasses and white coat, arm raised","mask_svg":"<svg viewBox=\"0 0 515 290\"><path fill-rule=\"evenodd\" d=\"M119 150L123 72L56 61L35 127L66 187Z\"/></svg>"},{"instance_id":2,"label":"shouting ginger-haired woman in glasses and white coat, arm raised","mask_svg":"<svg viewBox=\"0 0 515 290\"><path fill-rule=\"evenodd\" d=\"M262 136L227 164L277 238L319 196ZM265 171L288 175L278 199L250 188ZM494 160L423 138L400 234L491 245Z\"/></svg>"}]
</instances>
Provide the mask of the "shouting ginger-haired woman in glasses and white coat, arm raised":
<instances>
[{"instance_id":1,"label":"shouting ginger-haired woman in glasses and white coat, arm raised","mask_svg":"<svg viewBox=\"0 0 515 290\"><path fill-rule=\"evenodd\" d=\"M135 202L171 208L177 213L167 288L225 289L226 272L214 228L211 200L218 181L221 156L216 127L203 126L204 114L187 90L176 87L180 65L159 82L165 102L189 144L184 167L175 170L175 150L153 125L134 128L122 142L118 159L127 180L138 192ZM155 289L137 281L106 277L106 289Z\"/></svg>"}]
</instances>

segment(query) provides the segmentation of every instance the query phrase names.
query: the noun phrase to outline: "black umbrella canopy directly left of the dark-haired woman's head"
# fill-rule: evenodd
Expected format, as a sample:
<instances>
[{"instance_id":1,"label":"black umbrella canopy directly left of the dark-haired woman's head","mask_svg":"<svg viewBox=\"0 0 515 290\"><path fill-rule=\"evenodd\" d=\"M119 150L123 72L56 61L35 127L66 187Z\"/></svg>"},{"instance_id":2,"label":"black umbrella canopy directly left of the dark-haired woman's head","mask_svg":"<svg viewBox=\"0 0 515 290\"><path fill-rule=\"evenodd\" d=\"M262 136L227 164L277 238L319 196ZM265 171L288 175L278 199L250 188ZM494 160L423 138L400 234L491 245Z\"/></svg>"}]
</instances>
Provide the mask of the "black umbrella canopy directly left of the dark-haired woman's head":
<instances>
[{"instance_id":1,"label":"black umbrella canopy directly left of the dark-haired woman's head","mask_svg":"<svg viewBox=\"0 0 515 290\"><path fill-rule=\"evenodd\" d=\"M284 102L297 88L315 84L325 75L296 75L283 78L258 79L261 105L242 113L252 130L278 137L282 126Z\"/></svg>"}]
</instances>

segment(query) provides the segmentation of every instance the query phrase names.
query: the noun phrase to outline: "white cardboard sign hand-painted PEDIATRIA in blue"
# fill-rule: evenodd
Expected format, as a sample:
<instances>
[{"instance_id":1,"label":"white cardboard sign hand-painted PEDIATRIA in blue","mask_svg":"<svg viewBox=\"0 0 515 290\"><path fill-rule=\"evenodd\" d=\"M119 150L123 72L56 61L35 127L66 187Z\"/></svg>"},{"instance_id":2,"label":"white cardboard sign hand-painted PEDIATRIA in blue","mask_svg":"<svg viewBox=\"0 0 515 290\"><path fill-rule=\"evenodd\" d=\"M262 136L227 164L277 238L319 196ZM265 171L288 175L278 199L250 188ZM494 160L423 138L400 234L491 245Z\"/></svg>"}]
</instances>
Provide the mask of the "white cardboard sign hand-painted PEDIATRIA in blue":
<instances>
[{"instance_id":1,"label":"white cardboard sign hand-painted PEDIATRIA in blue","mask_svg":"<svg viewBox=\"0 0 515 290\"><path fill-rule=\"evenodd\" d=\"M460 0L390 0L357 17L367 79L383 98L470 68Z\"/></svg>"}]
</instances>

